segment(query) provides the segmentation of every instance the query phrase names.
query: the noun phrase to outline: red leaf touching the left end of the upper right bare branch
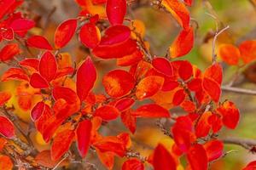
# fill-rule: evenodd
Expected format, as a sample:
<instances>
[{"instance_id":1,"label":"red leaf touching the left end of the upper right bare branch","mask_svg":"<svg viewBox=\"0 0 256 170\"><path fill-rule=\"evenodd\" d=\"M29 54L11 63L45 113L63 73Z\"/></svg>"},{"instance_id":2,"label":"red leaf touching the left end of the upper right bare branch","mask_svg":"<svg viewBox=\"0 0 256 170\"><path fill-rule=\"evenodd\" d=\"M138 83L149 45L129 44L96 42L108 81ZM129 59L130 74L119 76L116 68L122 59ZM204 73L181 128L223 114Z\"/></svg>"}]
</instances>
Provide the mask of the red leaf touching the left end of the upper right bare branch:
<instances>
[{"instance_id":1,"label":"red leaf touching the left end of the upper right bare branch","mask_svg":"<svg viewBox=\"0 0 256 170\"><path fill-rule=\"evenodd\" d=\"M207 94L211 96L213 101L218 102L221 94L221 89L217 82L209 78L203 79L203 88L206 90Z\"/></svg>"}]
</instances>

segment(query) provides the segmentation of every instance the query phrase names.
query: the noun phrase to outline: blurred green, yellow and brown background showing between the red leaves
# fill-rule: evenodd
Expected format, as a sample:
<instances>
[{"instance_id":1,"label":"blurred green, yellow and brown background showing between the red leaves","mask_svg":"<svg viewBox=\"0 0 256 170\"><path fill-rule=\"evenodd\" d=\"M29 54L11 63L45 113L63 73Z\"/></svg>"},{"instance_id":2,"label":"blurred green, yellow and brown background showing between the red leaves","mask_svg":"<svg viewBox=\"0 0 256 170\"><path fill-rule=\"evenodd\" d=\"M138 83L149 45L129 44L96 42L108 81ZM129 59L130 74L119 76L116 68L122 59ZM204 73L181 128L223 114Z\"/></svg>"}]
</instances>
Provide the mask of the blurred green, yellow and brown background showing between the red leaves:
<instances>
[{"instance_id":1,"label":"blurred green, yellow and brown background showing between the red leaves","mask_svg":"<svg viewBox=\"0 0 256 170\"><path fill-rule=\"evenodd\" d=\"M37 22L37 26L30 33L43 35L47 37L49 42L53 42L56 26L63 20L75 18L80 10L73 0L25 0L25 2L20 10L25 11L28 17L33 18ZM130 3L132 4L132 1ZM231 42L238 45L244 40L256 39L256 1L254 0L195 0L195 3L189 10L193 19L191 20L191 25L195 26L195 47L188 55L181 59L189 59L189 61L194 65L198 65L201 69L205 69L212 62L212 37L217 29L216 23L218 23L218 29L230 26L228 31L225 31L218 37L217 48L221 43ZM166 50L180 31L180 27L177 25L177 21L172 18L172 15L149 6L130 8L128 14L128 18L136 18L143 21L146 28L145 38L150 43L151 53L164 56ZM73 61L77 63L88 54L88 50L79 43L78 37L74 37L73 41L66 48L61 49L61 52L68 52L72 56ZM39 51L32 50L32 54L25 55L26 57L37 57L38 54L40 54ZM101 94L103 93L102 76L116 67L116 61L103 61L96 58L94 58L94 61L99 75L94 92ZM256 90L256 69L253 69L255 68L253 65L256 64L248 65L239 71L235 86ZM224 84L227 84L233 79L237 68L236 66L225 64L223 66ZM7 68L6 65L0 64L0 75ZM15 113L25 122L29 122L30 108L22 109L17 104L17 95L19 93L16 88L18 85L19 82L15 81L0 82L1 90L10 91L13 94L13 98L9 103L15 105ZM223 92L222 100L224 99L230 99L236 103L241 111L241 121L236 130L224 129L220 135L256 139L256 96ZM180 111L177 109L172 112L175 112L177 115L180 114ZM163 123L168 127L169 122ZM101 133L104 135L116 135L124 131L128 130L120 120L111 122L108 126L101 129ZM39 133L32 133L31 137L38 150L49 149L49 144L44 143ZM155 120L138 120L137 132L131 138L133 140L133 149L140 151L143 156L148 156L158 142L172 145L172 140L160 132L159 127L155 125ZM256 160L256 156L239 146L226 145L225 150L235 151L230 152L224 159L214 162L212 170L241 169L247 162ZM95 153L90 153L86 161L96 164L98 169L104 169L96 158ZM122 161L117 159L114 169L120 169ZM75 167L82 169L79 165L74 164L71 166L69 167L70 169L75 169Z\"/></svg>"}]
</instances>

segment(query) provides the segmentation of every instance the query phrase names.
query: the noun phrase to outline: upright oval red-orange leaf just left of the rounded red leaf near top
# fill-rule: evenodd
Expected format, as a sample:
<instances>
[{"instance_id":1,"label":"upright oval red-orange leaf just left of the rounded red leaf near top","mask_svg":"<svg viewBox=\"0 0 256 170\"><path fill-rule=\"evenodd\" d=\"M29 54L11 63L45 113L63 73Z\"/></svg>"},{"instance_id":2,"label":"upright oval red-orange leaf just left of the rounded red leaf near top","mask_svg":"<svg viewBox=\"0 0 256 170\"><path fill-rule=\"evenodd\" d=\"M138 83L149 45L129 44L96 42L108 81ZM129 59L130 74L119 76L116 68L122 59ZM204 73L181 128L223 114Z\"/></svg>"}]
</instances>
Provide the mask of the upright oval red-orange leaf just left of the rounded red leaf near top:
<instances>
[{"instance_id":1,"label":"upright oval red-orange leaf just left of the rounded red leaf near top","mask_svg":"<svg viewBox=\"0 0 256 170\"><path fill-rule=\"evenodd\" d=\"M77 29L77 20L65 20L55 31L55 48L63 48L73 37Z\"/></svg>"}]
</instances>

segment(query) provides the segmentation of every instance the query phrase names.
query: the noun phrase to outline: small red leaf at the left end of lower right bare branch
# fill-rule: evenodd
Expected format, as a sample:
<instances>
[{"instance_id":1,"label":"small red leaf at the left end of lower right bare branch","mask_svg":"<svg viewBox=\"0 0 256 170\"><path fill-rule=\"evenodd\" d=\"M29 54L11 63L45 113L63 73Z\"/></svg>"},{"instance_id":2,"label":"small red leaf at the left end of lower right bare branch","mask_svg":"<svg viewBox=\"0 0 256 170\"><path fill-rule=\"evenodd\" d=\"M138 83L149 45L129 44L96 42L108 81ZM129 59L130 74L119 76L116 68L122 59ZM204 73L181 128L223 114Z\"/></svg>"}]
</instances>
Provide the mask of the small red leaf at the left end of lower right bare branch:
<instances>
[{"instance_id":1,"label":"small red leaf at the left end of lower right bare branch","mask_svg":"<svg viewBox=\"0 0 256 170\"><path fill-rule=\"evenodd\" d=\"M219 140L208 141L203 147L207 151L208 161L217 160L224 155L224 144Z\"/></svg>"}]
</instances>

